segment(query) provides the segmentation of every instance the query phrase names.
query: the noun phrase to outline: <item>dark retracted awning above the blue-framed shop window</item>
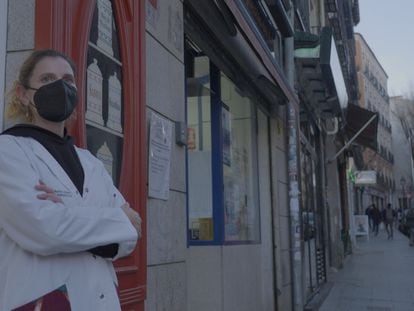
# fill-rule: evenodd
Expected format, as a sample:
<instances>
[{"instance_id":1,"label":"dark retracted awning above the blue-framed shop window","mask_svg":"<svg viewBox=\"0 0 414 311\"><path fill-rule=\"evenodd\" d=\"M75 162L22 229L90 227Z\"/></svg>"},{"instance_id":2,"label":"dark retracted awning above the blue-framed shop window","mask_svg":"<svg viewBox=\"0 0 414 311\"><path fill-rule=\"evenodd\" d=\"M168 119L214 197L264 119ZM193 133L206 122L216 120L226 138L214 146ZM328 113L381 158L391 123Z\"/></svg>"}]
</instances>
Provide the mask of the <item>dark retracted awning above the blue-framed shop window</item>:
<instances>
[{"instance_id":1,"label":"dark retracted awning above the blue-framed shop window","mask_svg":"<svg viewBox=\"0 0 414 311\"><path fill-rule=\"evenodd\" d=\"M284 77L284 71L270 51L260 42L254 25L243 15L245 8L234 1L186 1L185 31L209 58L235 83L242 83L242 75L249 79L271 104L292 103L298 98ZM247 13L246 13L247 14ZM207 31L200 28L206 25ZM263 40L263 39L262 39ZM237 64L237 66L235 65Z\"/></svg>"}]
</instances>

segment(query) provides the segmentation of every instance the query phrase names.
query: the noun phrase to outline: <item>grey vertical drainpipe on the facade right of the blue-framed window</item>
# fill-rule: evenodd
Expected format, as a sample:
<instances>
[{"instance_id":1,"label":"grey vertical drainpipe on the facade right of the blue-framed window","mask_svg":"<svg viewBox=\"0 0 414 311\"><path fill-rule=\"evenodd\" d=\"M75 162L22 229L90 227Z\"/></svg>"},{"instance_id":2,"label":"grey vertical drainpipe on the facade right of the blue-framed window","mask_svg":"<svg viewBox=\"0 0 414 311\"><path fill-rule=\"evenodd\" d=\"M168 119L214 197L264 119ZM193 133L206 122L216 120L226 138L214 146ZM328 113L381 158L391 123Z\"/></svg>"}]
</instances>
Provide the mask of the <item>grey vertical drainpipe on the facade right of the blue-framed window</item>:
<instances>
[{"instance_id":1,"label":"grey vertical drainpipe on the facade right of the blue-framed window","mask_svg":"<svg viewBox=\"0 0 414 311\"><path fill-rule=\"evenodd\" d=\"M294 8L288 13L291 22L294 20ZM288 83L294 87L294 38L285 40L285 75ZM288 180L289 180L289 211L290 211L290 249L292 269L292 296L293 311L303 310L303 263L301 252L301 227L300 227L300 205L299 205L299 161L298 161L298 112L292 103L288 103Z\"/></svg>"}]
</instances>

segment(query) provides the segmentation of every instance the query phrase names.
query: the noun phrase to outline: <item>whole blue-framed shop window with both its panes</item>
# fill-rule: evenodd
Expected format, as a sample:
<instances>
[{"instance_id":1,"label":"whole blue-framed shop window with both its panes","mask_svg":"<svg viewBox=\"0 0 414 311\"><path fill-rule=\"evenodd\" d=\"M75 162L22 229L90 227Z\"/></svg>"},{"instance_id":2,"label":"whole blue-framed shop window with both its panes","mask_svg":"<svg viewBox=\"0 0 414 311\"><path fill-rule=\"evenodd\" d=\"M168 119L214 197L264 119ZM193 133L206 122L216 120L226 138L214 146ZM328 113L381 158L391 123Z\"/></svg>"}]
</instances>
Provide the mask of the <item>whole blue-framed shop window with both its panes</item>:
<instances>
[{"instance_id":1,"label":"whole blue-framed shop window with both its panes","mask_svg":"<svg viewBox=\"0 0 414 311\"><path fill-rule=\"evenodd\" d=\"M257 242L255 106L189 44L185 62L189 242Z\"/></svg>"}]
</instances>

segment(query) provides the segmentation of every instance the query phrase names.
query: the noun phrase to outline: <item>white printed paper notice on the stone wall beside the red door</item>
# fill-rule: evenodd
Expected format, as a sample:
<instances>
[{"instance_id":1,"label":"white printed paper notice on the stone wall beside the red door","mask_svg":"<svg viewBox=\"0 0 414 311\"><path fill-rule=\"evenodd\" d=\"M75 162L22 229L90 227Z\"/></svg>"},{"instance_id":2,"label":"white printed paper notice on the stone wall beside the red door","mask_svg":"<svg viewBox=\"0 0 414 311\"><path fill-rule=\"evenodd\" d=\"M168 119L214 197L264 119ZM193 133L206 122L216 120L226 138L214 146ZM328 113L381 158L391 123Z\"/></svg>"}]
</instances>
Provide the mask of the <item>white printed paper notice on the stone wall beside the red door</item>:
<instances>
[{"instance_id":1,"label":"white printed paper notice on the stone wall beside the red door","mask_svg":"<svg viewBox=\"0 0 414 311\"><path fill-rule=\"evenodd\" d=\"M148 195L168 200L170 188L172 122L152 113L150 120Z\"/></svg>"}]
</instances>

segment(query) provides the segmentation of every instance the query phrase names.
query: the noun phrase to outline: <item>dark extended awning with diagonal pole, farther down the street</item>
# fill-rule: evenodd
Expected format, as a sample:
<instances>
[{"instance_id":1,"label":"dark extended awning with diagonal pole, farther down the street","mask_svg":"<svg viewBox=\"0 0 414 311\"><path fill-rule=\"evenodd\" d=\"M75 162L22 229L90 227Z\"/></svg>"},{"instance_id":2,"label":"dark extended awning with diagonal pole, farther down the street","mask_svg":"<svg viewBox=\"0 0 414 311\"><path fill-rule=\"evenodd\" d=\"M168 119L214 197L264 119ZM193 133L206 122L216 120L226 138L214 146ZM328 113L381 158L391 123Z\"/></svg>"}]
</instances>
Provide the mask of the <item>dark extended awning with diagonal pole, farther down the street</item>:
<instances>
[{"instance_id":1,"label":"dark extended awning with diagonal pole, farther down the street","mask_svg":"<svg viewBox=\"0 0 414 311\"><path fill-rule=\"evenodd\" d=\"M374 116L376 117L374 118ZM371 122L367 124L370 120ZM347 136L349 138L354 137L364 126L366 126L365 129L363 129L355 138L355 142L376 151L378 113L361 108L357 105L349 105L346 112L345 126Z\"/></svg>"}]
</instances>

